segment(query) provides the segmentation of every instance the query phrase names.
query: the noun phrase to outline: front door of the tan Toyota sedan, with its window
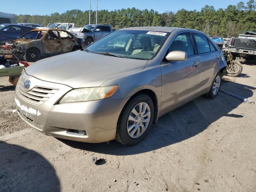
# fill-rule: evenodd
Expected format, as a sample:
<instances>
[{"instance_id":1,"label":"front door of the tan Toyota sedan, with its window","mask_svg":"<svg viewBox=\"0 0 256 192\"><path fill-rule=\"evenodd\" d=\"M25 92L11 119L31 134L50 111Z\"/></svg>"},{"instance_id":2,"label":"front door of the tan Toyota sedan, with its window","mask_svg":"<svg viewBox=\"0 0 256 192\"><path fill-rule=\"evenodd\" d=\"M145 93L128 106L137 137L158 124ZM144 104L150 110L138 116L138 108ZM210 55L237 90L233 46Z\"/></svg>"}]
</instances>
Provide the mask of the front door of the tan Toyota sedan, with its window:
<instances>
[{"instance_id":1,"label":"front door of the tan Toyota sedan, with its window","mask_svg":"<svg viewBox=\"0 0 256 192\"><path fill-rule=\"evenodd\" d=\"M164 61L162 70L161 112L175 106L196 94L199 78L199 58L195 55L192 38L189 32L176 36L168 52L184 51L186 61Z\"/></svg>"}]
</instances>

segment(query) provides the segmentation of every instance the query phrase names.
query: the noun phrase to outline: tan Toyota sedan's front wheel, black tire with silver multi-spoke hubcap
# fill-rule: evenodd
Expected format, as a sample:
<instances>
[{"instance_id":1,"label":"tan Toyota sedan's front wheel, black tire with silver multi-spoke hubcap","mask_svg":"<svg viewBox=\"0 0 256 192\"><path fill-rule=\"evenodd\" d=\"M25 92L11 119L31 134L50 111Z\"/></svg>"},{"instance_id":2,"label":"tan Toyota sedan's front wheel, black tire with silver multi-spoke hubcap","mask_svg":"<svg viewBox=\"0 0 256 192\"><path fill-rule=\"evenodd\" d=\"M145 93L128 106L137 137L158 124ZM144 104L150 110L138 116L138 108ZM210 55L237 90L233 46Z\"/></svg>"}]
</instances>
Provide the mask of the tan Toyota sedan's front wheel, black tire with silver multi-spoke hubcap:
<instances>
[{"instance_id":1,"label":"tan Toyota sedan's front wheel, black tire with silver multi-spoke hubcap","mask_svg":"<svg viewBox=\"0 0 256 192\"><path fill-rule=\"evenodd\" d=\"M140 116L140 114L138 113L140 105L142 106L142 116ZM143 109L146 109L146 112L144 114ZM132 112L132 110L136 110L136 112L138 113L137 116ZM145 114L147 114L147 116L144 116ZM149 132L152 126L153 119L154 104L152 99L146 94L140 94L135 96L126 104L120 114L116 128L116 141L126 146L138 144L145 138L145 136ZM144 129L142 128L142 125ZM129 132L128 128L130 128ZM132 135L132 133L134 134Z\"/></svg>"}]
</instances>

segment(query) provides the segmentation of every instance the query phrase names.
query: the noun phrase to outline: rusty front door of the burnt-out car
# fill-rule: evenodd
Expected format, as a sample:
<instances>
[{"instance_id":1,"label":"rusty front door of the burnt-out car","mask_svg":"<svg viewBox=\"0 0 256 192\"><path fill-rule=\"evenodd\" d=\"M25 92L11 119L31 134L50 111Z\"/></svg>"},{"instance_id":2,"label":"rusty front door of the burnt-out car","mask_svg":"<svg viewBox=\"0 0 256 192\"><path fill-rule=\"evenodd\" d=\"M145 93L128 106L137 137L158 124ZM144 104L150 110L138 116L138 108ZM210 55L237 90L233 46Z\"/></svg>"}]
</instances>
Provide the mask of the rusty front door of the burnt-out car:
<instances>
[{"instance_id":1,"label":"rusty front door of the burnt-out car","mask_svg":"<svg viewBox=\"0 0 256 192\"><path fill-rule=\"evenodd\" d=\"M48 31L46 38L42 40L45 55L57 55L62 53L62 42L57 31Z\"/></svg>"}]
</instances>

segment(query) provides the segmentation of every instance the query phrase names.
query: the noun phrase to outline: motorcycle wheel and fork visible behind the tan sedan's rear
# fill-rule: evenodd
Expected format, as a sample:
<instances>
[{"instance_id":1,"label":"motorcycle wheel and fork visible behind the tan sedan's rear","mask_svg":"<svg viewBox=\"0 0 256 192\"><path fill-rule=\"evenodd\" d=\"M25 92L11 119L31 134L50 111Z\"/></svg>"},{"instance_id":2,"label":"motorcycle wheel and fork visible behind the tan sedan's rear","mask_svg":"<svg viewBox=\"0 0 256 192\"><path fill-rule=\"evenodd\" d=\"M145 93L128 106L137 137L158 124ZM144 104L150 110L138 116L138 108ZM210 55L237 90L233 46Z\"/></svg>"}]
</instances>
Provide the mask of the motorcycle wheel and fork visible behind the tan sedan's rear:
<instances>
[{"instance_id":1,"label":"motorcycle wheel and fork visible behind the tan sedan's rear","mask_svg":"<svg viewBox=\"0 0 256 192\"><path fill-rule=\"evenodd\" d=\"M243 70L242 64L232 59L233 57L229 50L222 49L222 52L228 65L226 68L226 76L236 77L240 75Z\"/></svg>"}]
</instances>

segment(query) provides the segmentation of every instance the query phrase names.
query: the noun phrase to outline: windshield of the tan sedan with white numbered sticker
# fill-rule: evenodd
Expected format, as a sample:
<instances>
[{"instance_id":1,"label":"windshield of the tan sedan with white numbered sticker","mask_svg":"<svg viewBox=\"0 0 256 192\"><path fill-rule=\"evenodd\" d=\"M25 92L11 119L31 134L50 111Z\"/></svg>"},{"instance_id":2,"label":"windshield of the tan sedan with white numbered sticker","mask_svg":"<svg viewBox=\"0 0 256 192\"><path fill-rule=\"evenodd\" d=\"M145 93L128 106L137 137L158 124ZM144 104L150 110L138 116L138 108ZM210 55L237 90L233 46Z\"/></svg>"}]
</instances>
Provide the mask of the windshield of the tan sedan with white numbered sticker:
<instances>
[{"instance_id":1,"label":"windshield of the tan sedan with white numbered sticker","mask_svg":"<svg viewBox=\"0 0 256 192\"><path fill-rule=\"evenodd\" d=\"M170 32L118 30L92 43L85 51L132 59L151 59Z\"/></svg>"}]
</instances>

